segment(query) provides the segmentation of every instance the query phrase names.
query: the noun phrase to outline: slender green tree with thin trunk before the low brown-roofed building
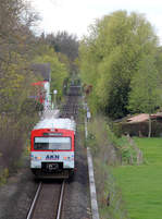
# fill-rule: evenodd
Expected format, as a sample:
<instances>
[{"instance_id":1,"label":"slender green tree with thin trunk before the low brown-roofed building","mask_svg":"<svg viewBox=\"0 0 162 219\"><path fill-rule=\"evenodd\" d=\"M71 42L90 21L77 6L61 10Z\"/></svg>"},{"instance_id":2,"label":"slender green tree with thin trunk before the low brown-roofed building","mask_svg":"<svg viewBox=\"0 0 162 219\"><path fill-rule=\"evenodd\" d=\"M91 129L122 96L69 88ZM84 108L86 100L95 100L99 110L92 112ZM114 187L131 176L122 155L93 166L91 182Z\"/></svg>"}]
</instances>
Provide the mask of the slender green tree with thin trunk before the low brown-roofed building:
<instances>
[{"instance_id":1,"label":"slender green tree with thin trunk before the low brown-roofed building","mask_svg":"<svg viewBox=\"0 0 162 219\"><path fill-rule=\"evenodd\" d=\"M149 114L149 133L151 136L150 114L161 106L158 71L152 56L145 56L139 62L139 70L130 83L128 109L133 112L145 112Z\"/></svg>"}]
</instances>

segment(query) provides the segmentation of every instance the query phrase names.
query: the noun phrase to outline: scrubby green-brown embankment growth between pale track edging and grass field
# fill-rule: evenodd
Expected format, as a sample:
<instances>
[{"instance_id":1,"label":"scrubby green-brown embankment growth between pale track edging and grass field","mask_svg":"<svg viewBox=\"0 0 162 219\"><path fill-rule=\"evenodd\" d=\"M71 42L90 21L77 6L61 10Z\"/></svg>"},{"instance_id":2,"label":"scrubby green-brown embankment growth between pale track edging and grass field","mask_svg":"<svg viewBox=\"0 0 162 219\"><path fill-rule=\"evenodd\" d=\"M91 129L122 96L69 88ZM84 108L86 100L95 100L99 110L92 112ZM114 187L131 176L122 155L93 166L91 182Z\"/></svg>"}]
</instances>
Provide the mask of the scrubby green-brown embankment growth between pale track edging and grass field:
<instances>
[{"instance_id":1,"label":"scrubby green-brown embankment growth between pale track edging and grass field","mask_svg":"<svg viewBox=\"0 0 162 219\"><path fill-rule=\"evenodd\" d=\"M87 145L91 148L101 218L128 218L120 187L111 174L111 167L142 162L140 150L127 136L117 138L105 118L96 117L88 123Z\"/></svg>"}]
</instances>

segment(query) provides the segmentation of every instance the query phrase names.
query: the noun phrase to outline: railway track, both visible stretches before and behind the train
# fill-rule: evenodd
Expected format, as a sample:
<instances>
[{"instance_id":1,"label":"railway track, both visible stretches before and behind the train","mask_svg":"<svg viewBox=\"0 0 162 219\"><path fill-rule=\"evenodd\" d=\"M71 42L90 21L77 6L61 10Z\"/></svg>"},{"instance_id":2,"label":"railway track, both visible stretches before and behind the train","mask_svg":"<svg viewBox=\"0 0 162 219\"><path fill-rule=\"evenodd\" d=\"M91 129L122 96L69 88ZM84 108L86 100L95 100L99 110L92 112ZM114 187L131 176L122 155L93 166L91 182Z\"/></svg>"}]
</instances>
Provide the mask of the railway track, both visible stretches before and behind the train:
<instances>
[{"instance_id":1,"label":"railway track, both visible stretches before and behind the train","mask_svg":"<svg viewBox=\"0 0 162 219\"><path fill-rule=\"evenodd\" d=\"M79 89L70 88L61 118L77 119ZM65 184L65 181L40 182L26 219L61 219Z\"/></svg>"}]
</instances>

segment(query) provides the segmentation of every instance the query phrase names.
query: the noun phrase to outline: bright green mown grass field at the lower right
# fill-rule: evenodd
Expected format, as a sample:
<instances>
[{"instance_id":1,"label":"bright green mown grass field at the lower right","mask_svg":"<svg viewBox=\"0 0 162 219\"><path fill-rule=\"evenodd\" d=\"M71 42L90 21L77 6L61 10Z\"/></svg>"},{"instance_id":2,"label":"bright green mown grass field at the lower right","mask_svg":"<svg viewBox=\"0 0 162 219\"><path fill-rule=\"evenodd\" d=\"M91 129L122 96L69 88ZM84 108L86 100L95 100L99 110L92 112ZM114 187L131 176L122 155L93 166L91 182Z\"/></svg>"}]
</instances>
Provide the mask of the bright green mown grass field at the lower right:
<instances>
[{"instance_id":1,"label":"bright green mown grass field at the lower right","mask_svg":"<svg viewBox=\"0 0 162 219\"><path fill-rule=\"evenodd\" d=\"M113 168L130 219L161 219L162 138L135 138L144 151L141 166Z\"/></svg>"}]
</instances>

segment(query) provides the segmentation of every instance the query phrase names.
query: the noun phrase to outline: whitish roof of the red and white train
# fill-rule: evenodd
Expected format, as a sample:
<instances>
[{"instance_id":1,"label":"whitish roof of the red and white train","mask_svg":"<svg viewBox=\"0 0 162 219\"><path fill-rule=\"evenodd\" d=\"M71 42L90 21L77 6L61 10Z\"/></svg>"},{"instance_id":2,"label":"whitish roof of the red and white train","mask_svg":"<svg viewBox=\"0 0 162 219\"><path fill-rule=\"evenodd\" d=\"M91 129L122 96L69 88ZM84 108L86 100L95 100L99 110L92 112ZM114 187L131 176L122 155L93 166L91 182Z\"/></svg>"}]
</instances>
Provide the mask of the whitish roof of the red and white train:
<instances>
[{"instance_id":1,"label":"whitish roof of the red and white train","mask_svg":"<svg viewBox=\"0 0 162 219\"><path fill-rule=\"evenodd\" d=\"M65 118L50 118L40 120L34 127L34 130L41 130L41 129L61 129L61 130L71 130L76 131L76 123L72 119Z\"/></svg>"}]
</instances>

